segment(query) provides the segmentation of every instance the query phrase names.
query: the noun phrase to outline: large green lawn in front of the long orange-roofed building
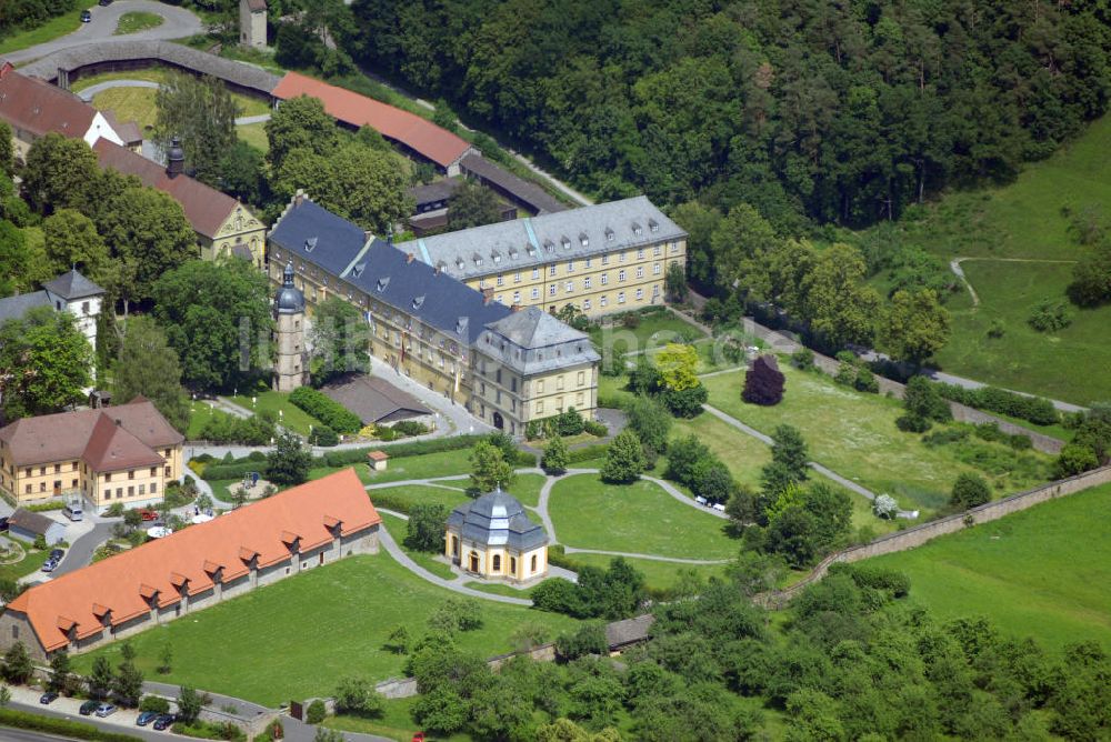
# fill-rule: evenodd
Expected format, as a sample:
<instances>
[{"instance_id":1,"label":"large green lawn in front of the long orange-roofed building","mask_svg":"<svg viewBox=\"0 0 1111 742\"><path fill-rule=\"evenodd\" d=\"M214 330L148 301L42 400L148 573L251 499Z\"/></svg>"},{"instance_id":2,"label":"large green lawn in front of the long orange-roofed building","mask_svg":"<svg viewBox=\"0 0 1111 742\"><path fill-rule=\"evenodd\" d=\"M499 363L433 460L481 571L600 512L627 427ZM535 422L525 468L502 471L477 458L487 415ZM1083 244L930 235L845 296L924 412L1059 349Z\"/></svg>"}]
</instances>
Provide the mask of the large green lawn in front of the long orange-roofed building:
<instances>
[{"instance_id":1,"label":"large green lawn in front of the long orange-roofed building","mask_svg":"<svg viewBox=\"0 0 1111 742\"><path fill-rule=\"evenodd\" d=\"M400 624L420 633L428 615L452 595L384 552L349 556L150 629L131 642L147 678L277 705L330 694L347 674L376 681L400 676L404 658L382 649L387 636ZM457 636L461 649L481 655L512 649L510 635L524 621L553 634L575 624L528 608L481 605L483 628ZM173 671L158 675L167 642L173 648ZM74 670L88 672L98 655L116 666L120 642L74 658Z\"/></svg>"}]
</instances>

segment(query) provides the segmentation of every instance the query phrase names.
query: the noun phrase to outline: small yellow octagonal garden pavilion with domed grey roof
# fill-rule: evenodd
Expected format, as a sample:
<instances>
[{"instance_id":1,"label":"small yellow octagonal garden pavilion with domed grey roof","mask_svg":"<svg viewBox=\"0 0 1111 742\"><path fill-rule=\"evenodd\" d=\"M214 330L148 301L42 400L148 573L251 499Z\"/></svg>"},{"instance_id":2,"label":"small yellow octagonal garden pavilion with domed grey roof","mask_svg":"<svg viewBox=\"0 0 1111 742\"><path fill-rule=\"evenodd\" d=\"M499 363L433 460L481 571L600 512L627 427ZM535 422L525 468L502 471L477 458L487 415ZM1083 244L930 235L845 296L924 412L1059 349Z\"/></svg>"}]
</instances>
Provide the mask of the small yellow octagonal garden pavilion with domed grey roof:
<instances>
[{"instance_id":1,"label":"small yellow octagonal garden pavilion with domed grey roof","mask_svg":"<svg viewBox=\"0 0 1111 742\"><path fill-rule=\"evenodd\" d=\"M548 534L500 488L451 511L444 554L488 580L532 582L548 574Z\"/></svg>"}]
</instances>

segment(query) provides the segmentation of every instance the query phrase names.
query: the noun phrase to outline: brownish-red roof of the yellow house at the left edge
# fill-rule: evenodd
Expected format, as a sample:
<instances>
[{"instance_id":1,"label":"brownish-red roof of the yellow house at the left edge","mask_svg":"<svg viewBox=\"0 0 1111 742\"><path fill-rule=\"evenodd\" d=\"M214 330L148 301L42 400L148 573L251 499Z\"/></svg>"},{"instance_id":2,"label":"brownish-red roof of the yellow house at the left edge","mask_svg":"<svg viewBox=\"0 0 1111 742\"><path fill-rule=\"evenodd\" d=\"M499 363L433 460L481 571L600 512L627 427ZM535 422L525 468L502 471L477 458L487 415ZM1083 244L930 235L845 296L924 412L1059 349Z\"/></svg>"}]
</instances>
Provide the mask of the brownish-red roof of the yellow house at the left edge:
<instances>
[{"instance_id":1,"label":"brownish-red roof of the yellow house at the left edge","mask_svg":"<svg viewBox=\"0 0 1111 742\"><path fill-rule=\"evenodd\" d=\"M184 440L152 402L137 397L128 404L23 418L0 429L0 441L11 449L17 467L83 459L96 468L110 462L161 463L151 449ZM154 460L157 459L157 461ZM129 467L110 467L114 471ZM99 471L99 470L98 470Z\"/></svg>"}]
</instances>

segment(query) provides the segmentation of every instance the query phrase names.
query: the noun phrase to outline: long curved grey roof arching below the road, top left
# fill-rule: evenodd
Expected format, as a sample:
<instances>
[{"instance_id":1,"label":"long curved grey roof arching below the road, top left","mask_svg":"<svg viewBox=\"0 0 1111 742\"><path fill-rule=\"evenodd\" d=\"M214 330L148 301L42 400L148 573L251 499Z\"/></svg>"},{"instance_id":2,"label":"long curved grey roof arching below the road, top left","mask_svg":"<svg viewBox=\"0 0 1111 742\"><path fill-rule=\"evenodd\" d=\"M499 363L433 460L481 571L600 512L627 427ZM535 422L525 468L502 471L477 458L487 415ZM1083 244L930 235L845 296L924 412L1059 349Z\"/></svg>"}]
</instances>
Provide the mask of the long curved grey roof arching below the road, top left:
<instances>
[{"instance_id":1,"label":"long curved grey roof arching below the road, top left","mask_svg":"<svg viewBox=\"0 0 1111 742\"><path fill-rule=\"evenodd\" d=\"M277 74L253 64L244 64L171 41L120 39L70 47L42 57L20 68L23 74L43 80L58 78L58 70L74 70L112 61L158 60L167 64L210 74L226 82L269 96L281 80Z\"/></svg>"}]
</instances>

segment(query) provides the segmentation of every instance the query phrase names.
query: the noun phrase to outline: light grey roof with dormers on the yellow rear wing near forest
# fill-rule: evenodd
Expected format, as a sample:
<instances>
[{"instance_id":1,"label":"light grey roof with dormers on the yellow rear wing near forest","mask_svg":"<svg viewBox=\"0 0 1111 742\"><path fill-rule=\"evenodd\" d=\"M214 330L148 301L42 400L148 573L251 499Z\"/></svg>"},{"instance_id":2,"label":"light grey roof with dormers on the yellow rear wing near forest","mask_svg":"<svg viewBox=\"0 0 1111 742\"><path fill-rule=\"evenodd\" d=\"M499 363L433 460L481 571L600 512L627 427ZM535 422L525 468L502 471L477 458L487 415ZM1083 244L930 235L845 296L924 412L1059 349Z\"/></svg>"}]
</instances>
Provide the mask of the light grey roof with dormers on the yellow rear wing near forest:
<instances>
[{"instance_id":1,"label":"light grey roof with dormers on the yellow rear wing near forest","mask_svg":"<svg viewBox=\"0 0 1111 742\"><path fill-rule=\"evenodd\" d=\"M648 198L638 195L434 234L398 248L468 280L685 238L687 232Z\"/></svg>"}]
</instances>

